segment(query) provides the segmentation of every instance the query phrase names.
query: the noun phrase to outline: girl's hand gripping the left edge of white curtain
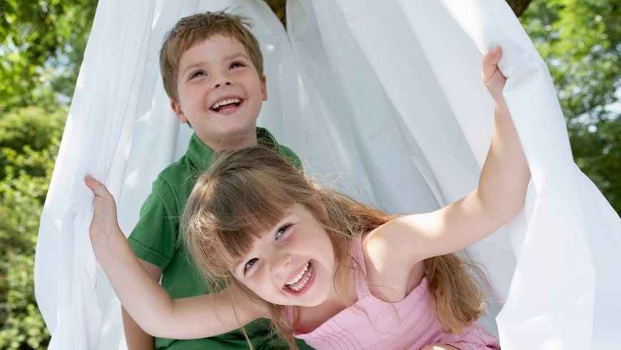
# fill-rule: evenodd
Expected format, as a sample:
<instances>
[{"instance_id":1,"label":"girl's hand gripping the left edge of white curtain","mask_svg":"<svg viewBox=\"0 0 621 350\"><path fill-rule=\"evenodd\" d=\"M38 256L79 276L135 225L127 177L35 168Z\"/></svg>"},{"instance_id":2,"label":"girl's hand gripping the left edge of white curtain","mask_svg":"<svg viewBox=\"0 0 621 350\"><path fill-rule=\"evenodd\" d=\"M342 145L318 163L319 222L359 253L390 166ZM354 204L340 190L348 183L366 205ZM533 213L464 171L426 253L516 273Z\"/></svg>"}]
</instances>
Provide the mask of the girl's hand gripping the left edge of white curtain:
<instances>
[{"instance_id":1,"label":"girl's hand gripping the left edge of white curtain","mask_svg":"<svg viewBox=\"0 0 621 350\"><path fill-rule=\"evenodd\" d=\"M93 179L90 175L86 175L84 182L95 194L95 211L89 228L91 242L107 242L114 231L120 231L116 219L116 203L112 194L101 182Z\"/></svg>"}]
</instances>

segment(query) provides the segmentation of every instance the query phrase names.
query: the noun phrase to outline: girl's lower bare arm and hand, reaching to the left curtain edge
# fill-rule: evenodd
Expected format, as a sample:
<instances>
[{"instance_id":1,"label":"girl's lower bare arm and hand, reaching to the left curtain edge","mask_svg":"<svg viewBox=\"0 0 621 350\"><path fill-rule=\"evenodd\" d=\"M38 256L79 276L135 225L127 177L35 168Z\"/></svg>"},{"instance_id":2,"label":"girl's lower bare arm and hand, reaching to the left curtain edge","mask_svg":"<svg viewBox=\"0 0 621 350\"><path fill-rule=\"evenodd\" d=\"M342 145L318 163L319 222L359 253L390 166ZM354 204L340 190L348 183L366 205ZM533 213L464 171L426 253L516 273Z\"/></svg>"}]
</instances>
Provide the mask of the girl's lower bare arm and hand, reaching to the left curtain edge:
<instances>
[{"instance_id":1,"label":"girl's lower bare arm and hand, reaching to the left curtain edge","mask_svg":"<svg viewBox=\"0 0 621 350\"><path fill-rule=\"evenodd\" d=\"M261 306L234 307L226 289L202 296L171 299L143 269L118 227L116 204L106 186L91 176L86 184L95 194L89 233L99 263L116 296L144 331L153 336L196 339L223 334L258 317L268 316Z\"/></svg>"}]
</instances>

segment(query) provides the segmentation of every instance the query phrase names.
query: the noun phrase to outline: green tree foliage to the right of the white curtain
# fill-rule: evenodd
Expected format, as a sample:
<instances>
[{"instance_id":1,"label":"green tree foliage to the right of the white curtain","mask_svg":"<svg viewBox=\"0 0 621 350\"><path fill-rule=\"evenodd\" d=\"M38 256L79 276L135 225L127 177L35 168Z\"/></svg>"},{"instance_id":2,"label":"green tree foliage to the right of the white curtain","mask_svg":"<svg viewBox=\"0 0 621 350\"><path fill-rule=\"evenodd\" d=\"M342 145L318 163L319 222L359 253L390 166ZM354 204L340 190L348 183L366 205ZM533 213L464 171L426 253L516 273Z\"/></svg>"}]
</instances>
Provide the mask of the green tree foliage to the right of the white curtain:
<instances>
[{"instance_id":1,"label":"green tree foliage to the right of the white curtain","mask_svg":"<svg viewBox=\"0 0 621 350\"><path fill-rule=\"evenodd\" d=\"M534 0L521 20L550 69L576 164L621 213L621 4Z\"/></svg>"}]
</instances>

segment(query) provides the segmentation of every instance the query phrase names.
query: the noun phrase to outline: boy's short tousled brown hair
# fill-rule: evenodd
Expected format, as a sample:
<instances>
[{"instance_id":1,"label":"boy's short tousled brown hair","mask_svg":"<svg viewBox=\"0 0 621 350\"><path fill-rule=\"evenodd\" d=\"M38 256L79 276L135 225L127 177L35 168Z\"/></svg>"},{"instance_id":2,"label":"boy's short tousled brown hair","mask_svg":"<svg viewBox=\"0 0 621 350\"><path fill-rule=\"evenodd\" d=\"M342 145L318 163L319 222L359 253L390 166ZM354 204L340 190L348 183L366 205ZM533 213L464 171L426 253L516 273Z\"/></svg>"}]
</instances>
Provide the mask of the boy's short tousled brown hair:
<instances>
[{"instance_id":1,"label":"boy's short tousled brown hair","mask_svg":"<svg viewBox=\"0 0 621 350\"><path fill-rule=\"evenodd\" d=\"M248 17L226 11L193 14L180 19L166 35L160 51L160 70L168 97L173 101L179 101L178 65L183 53L216 34L235 38L241 42L248 51L259 77L263 76L261 46L251 33L251 27L251 20Z\"/></svg>"}]
</instances>

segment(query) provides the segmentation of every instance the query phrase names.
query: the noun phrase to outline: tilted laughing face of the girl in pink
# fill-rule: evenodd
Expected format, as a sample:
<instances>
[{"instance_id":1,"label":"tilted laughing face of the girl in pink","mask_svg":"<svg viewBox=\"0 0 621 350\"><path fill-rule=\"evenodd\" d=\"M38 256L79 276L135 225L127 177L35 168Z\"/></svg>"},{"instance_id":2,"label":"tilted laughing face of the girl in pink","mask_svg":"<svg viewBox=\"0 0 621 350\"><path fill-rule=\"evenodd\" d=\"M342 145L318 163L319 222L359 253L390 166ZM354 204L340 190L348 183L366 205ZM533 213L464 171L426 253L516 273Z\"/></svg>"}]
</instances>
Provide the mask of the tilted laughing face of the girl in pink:
<instances>
[{"instance_id":1,"label":"tilted laughing face of the girl in pink","mask_svg":"<svg viewBox=\"0 0 621 350\"><path fill-rule=\"evenodd\" d=\"M323 226L301 204L254 241L233 266L236 279L277 305L317 306L333 292L335 259Z\"/></svg>"}]
</instances>

